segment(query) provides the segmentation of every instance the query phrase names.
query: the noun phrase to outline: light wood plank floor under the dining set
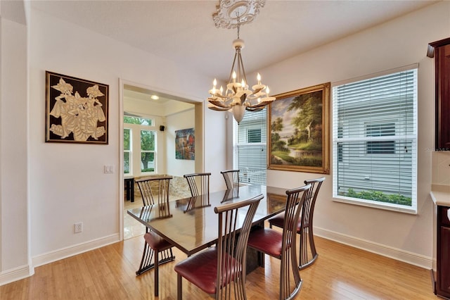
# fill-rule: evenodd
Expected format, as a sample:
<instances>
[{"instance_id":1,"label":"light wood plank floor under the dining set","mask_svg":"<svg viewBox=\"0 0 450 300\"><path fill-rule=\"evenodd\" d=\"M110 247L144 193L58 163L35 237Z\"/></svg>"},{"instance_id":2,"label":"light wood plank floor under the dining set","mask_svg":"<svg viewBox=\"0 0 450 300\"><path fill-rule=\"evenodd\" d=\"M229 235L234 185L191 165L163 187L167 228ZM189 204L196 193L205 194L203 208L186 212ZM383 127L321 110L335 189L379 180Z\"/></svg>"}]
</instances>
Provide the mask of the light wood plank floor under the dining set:
<instances>
[{"instance_id":1,"label":"light wood plank floor under the dining set","mask_svg":"<svg viewBox=\"0 0 450 300\"><path fill-rule=\"evenodd\" d=\"M301 271L298 299L438 299L430 271L316 237L319 258ZM0 299L154 299L153 270L136 277L142 237L35 268L32 277L0 287ZM176 261L186 255L175 249ZM160 268L159 299L176 299L176 262ZM248 299L278 299L279 261L247 277ZM184 280L184 299L211 299Z\"/></svg>"}]
</instances>

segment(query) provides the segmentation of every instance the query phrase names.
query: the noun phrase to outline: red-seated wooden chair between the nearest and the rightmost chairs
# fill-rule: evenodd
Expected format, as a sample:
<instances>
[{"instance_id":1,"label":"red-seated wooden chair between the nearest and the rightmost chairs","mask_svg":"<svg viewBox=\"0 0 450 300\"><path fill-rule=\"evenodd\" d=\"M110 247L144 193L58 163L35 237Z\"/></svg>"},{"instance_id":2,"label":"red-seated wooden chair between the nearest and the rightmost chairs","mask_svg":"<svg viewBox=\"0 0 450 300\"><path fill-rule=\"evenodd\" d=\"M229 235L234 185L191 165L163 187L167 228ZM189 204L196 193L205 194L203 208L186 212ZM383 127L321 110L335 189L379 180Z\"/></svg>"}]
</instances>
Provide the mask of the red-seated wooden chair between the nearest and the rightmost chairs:
<instances>
[{"instance_id":1,"label":"red-seated wooden chair between the nearest and the rightmost chairs","mask_svg":"<svg viewBox=\"0 0 450 300\"><path fill-rule=\"evenodd\" d=\"M302 278L297 263L297 223L300 211L311 185L297 187L286 191L286 208L283 232L271 228L260 227L250 232L248 246L262 253L261 265L264 265L264 254L281 260L280 264L280 296L279 299L294 299L302 288ZM291 280L293 279L293 281Z\"/></svg>"}]
</instances>

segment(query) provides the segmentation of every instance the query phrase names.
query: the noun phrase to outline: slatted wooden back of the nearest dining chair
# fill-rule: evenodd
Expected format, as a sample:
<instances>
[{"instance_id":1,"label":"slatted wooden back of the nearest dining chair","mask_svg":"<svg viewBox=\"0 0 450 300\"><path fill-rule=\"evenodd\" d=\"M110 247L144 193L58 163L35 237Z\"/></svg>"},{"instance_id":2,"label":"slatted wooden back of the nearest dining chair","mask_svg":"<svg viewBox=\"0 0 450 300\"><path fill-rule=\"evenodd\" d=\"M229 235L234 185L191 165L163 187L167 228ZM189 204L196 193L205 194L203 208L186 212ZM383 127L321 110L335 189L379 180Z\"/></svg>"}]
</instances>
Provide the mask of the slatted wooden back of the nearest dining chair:
<instances>
[{"instance_id":1,"label":"slatted wooden back of the nearest dining chair","mask_svg":"<svg viewBox=\"0 0 450 300\"><path fill-rule=\"evenodd\" d=\"M251 199L214 208L214 212L219 214L216 299L247 299L245 265L248 235L262 198L263 195L259 194ZM244 218L240 210L246 207L248 209ZM242 218L244 218L243 225L240 230L236 230Z\"/></svg>"}]
</instances>

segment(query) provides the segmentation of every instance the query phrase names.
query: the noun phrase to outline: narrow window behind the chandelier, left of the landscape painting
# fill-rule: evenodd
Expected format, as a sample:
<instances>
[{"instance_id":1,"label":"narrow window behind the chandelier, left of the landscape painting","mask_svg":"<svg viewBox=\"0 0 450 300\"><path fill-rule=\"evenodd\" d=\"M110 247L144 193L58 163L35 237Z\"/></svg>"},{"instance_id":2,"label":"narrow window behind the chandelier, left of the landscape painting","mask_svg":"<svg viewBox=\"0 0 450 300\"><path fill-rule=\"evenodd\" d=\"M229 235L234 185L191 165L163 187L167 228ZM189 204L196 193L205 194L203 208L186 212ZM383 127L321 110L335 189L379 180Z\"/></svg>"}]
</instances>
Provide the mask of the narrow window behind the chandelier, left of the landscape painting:
<instances>
[{"instance_id":1,"label":"narrow window behind the chandelier, left of the landscape painting","mask_svg":"<svg viewBox=\"0 0 450 300\"><path fill-rule=\"evenodd\" d=\"M234 122L234 168L240 170L239 182L266 185L267 113L247 111L240 123Z\"/></svg>"}]
</instances>

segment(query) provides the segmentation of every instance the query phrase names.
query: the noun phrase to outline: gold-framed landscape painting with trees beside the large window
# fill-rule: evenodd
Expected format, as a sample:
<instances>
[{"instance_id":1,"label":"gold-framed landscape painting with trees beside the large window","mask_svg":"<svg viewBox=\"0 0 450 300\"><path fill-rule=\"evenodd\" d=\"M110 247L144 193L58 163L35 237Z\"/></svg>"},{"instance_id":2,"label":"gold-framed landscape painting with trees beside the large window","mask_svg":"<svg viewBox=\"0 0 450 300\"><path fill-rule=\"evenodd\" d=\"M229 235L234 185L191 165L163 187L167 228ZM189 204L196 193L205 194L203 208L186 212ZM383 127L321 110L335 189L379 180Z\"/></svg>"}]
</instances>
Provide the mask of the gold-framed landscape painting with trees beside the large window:
<instances>
[{"instance_id":1,"label":"gold-framed landscape painting with trees beside the large window","mask_svg":"<svg viewBox=\"0 0 450 300\"><path fill-rule=\"evenodd\" d=\"M268 168L330 174L330 82L275 97Z\"/></svg>"}]
</instances>

